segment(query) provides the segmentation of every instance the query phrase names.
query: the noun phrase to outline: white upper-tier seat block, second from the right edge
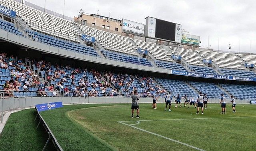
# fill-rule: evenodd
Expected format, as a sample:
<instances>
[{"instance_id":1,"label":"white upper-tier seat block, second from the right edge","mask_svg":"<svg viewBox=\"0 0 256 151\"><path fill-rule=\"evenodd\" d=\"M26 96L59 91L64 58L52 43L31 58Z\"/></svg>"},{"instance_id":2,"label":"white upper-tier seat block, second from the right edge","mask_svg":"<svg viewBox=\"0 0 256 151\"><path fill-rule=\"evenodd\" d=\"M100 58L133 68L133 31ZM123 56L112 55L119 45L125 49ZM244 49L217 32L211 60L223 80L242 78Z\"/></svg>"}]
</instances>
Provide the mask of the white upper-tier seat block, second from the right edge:
<instances>
[{"instance_id":1,"label":"white upper-tier seat block, second from the right edge","mask_svg":"<svg viewBox=\"0 0 256 151\"><path fill-rule=\"evenodd\" d=\"M232 53L219 53L216 51L198 50L198 53L204 57L204 59L212 60L220 68L227 69L244 69L244 63Z\"/></svg>"}]
</instances>

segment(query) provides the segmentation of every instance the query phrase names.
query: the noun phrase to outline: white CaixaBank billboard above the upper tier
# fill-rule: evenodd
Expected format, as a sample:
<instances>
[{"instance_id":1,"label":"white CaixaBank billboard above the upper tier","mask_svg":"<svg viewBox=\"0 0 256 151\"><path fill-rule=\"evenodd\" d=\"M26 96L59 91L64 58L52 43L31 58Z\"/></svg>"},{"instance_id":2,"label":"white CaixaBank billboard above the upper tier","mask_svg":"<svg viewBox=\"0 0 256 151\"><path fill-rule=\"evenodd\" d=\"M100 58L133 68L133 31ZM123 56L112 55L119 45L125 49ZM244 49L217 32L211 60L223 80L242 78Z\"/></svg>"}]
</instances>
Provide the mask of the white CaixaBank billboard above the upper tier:
<instances>
[{"instance_id":1,"label":"white CaixaBank billboard above the upper tier","mask_svg":"<svg viewBox=\"0 0 256 151\"><path fill-rule=\"evenodd\" d=\"M145 25L132 22L130 20L122 19L122 30L125 31L132 31L133 33L138 33L138 34L145 34Z\"/></svg>"}]
</instances>

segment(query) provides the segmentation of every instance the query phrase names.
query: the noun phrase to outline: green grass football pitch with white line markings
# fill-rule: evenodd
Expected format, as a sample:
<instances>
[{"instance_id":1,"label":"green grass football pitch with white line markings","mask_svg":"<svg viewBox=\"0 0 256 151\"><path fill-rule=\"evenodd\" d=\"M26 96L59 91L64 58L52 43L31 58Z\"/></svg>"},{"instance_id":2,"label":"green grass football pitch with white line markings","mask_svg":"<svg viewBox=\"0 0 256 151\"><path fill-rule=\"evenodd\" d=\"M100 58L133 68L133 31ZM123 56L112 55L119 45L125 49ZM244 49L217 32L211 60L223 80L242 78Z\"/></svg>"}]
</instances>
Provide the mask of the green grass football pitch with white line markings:
<instances>
[{"instance_id":1,"label":"green grass football pitch with white line markings","mask_svg":"<svg viewBox=\"0 0 256 151\"><path fill-rule=\"evenodd\" d=\"M157 110L152 109L152 104L140 104L140 119L131 118L130 106L68 105L42 112L41 115L62 148L67 151L253 151L256 148L255 105L237 104L236 113L232 113L232 106L227 105L227 114L220 114L219 104L208 104L202 115L195 114L196 109L191 106L190 109L172 106L172 112L168 112L164 111L165 104L157 104ZM22 112L31 114L26 110ZM0 137L0 145L12 139L13 136L9 135L8 139L5 136L12 130L10 124L13 123L10 122L18 118L18 114L10 116L2 132L4 137ZM23 138L23 141L26 139ZM12 147L7 149L12 150Z\"/></svg>"}]
</instances>

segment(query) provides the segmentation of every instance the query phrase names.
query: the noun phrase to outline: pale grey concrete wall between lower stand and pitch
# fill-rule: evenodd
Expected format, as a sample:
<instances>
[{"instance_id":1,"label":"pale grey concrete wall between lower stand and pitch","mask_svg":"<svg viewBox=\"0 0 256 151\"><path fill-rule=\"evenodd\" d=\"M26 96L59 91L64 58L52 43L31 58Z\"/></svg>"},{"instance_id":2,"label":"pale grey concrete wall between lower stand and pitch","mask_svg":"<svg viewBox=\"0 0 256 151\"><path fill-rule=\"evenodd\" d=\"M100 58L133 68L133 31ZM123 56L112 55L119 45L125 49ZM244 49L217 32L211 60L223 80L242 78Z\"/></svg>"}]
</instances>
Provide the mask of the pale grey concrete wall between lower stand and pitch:
<instances>
[{"instance_id":1,"label":"pale grey concrete wall between lower stand and pitch","mask_svg":"<svg viewBox=\"0 0 256 151\"><path fill-rule=\"evenodd\" d=\"M173 99L174 100L174 99ZM126 97L73 97L73 96L38 96L38 97L16 97L0 100L0 112L22 108L34 108L35 104L62 101L63 104L88 104L88 103L131 103L131 98ZM152 103L152 98L140 98L140 103ZM182 99L182 103L184 99ZM209 103L220 103L220 99L209 99ZM3 103L3 106L2 106ZM164 103L164 98L159 98L158 103ZM227 103L229 100L227 99ZM250 103L249 100L236 100L237 104ZM173 102L174 104L174 102Z\"/></svg>"}]
</instances>

